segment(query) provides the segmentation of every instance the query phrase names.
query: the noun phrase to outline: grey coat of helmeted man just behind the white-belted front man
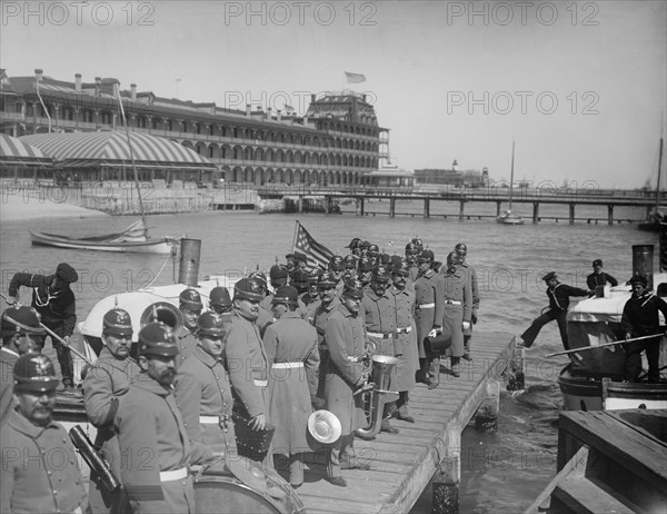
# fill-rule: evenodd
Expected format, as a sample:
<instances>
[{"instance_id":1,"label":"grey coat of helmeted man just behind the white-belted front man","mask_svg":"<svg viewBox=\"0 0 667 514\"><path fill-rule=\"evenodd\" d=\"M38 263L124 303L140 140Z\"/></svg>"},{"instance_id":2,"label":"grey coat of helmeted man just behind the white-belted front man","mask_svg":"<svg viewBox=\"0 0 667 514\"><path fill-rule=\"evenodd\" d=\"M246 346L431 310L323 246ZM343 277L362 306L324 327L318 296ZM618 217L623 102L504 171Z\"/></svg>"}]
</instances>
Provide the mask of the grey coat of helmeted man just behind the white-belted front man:
<instances>
[{"instance_id":1,"label":"grey coat of helmeted man just behind the white-belted front man","mask_svg":"<svg viewBox=\"0 0 667 514\"><path fill-rule=\"evenodd\" d=\"M120 480L120 448L113 419L120 398L130 389L130 382L141 368L131 358L119 360L104 346L99 358L83 379L83 405L88 419L97 427L96 447L101 448L117 478ZM125 512L128 508L125 492L107 491L99 476L91 473L88 503L92 513Z\"/></svg>"}]
</instances>

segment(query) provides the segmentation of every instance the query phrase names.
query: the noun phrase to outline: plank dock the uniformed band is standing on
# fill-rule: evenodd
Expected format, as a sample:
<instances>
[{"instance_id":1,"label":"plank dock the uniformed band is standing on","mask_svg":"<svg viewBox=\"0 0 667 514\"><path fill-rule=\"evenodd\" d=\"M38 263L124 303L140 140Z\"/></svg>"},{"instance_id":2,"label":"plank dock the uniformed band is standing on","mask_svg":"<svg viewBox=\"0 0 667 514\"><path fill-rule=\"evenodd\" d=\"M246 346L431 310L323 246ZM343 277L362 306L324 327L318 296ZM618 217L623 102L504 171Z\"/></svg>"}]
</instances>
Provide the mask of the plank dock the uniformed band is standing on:
<instances>
[{"instance_id":1,"label":"plank dock the uniformed band is standing on","mask_svg":"<svg viewBox=\"0 0 667 514\"><path fill-rule=\"evenodd\" d=\"M326 480L323 455L307 463L306 480L298 490L306 511L406 514L436 472L458 486L461 432L487 399L488 391L497 385L496 380L502 379L514 350L515 342L509 334L475 333L474 360L461 360L460 377L450 375L447 359L441 364L438 388L418 384L410 392L409 408L415 424L392 419L391 425L400 429L399 434L380 433L374 441L355 439L357 457L370 466L369 471L344 471L348 485L337 487Z\"/></svg>"}]
</instances>

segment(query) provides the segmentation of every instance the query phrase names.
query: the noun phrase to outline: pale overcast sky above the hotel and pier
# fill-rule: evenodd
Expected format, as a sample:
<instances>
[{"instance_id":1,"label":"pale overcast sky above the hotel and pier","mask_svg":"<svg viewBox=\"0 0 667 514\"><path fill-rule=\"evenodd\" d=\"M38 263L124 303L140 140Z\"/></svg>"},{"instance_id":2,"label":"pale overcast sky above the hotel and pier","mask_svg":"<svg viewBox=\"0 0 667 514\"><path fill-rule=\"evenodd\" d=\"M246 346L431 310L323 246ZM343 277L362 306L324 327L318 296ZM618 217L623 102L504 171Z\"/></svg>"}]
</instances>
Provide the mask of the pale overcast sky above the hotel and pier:
<instances>
[{"instance_id":1,"label":"pale overcast sky above the hotel and pier","mask_svg":"<svg viewBox=\"0 0 667 514\"><path fill-rule=\"evenodd\" d=\"M656 185L667 97L660 1L0 1L0 66L305 113L366 92L394 165L492 180ZM366 81L348 85L345 71ZM663 157L665 174L665 156ZM663 179L665 185L667 180Z\"/></svg>"}]
</instances>

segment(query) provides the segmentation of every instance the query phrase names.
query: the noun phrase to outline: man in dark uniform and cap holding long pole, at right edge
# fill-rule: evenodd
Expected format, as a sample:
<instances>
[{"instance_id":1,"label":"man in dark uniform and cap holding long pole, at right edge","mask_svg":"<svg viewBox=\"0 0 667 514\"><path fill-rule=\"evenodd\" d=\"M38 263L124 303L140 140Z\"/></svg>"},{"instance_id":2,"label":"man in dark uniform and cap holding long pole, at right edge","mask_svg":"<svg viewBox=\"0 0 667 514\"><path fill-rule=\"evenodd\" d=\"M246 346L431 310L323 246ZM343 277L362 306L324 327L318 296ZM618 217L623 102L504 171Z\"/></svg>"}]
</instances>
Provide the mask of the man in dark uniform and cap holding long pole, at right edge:
<instances>
[{"instance_id":1,"label":"man in dark uniform and cap holding long pole, at right edge","mask_svg":"<svg viewBox=\"0 0 667 514\"><path fill-rule=\"evenodd\" d=\"M643 275L635 275L630 278L633 296L626 302L623 309L620 328L625 332L626 340L636 337L655 337L625 345L626 358L623 377L628 382L637 382L641 374L641 352L646 350L648 382L657 384L660 382L660 340L664 335L658 312L663 313L667 319L667 304L646 290L646 277Z\"/></svg>"}]
</instances>

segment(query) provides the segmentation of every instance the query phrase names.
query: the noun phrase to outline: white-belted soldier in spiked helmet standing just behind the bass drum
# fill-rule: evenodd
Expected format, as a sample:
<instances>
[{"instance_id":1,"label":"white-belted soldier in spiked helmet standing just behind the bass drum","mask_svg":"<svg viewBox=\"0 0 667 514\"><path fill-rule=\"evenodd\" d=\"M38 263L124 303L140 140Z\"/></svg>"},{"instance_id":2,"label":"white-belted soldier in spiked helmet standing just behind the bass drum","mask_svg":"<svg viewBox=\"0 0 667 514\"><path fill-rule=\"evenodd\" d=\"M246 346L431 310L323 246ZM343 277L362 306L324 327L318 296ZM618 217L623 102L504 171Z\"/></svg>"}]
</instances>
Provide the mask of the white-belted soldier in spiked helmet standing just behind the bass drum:
<instances>
[{"instance_id":1,"label":"white-belted soldier in spiked helmet standing just behind the bass drum","mask_svg":"<svg viewBox=\"0 0 667 514\"><path fill-rule=\"evenodd\" d=\"M236 456L231 421L233 398L222 360L226 336L222 316L201 314L197 319L196 334L198 346L176 374L176 405L190 441Z\"/></svg>"}]
</instances>

